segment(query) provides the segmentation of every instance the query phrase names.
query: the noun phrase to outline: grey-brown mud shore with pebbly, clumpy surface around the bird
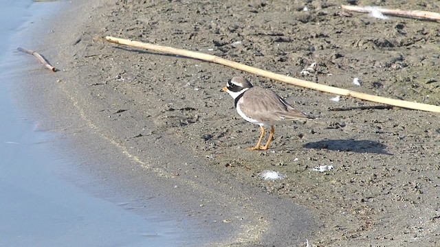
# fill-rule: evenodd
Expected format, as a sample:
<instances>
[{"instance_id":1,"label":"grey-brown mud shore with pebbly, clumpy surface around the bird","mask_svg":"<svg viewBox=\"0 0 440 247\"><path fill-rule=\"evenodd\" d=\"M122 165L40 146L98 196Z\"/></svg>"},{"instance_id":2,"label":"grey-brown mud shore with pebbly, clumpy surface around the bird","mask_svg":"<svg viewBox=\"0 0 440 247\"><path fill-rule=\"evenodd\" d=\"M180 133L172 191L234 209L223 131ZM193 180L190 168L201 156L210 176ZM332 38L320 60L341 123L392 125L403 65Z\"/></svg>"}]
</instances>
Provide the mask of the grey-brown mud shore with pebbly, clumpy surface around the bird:
<instances>
[{"instance_id":1,"label":"grey-brown mud shore with pebbly, clumpy surface around the bird","mask_svg":"<svg viewBox=\"0 0 440 247\"><path fill-rule=\"evenodd\" d=\"M440 3L429 2L357 1L440 9ZM141 173L153 171L164 180L203 187L213 198L221 195L224 208L200 209L202 215L228 207L248 211L248 228L237 224L236 231L249 234L225 239L225 245L305 246L307 238L312 246L439 246L438 114L332 110L374 104L347 97L334 102L336 95L99 39L201 51L319 84L439 105L439 23L348 14L339 8L346 3L89 3L89 16L76 30L54 27L48 34L61 40L53 60L62 61L63 69L53 75L57 89L51 90L68 95L63 107L76 108L82 128L118 146ZM308 75L300 73L314 62ZM259 127L241 119L232 98L219 92L234 75L276 91L316 119L277 126L270 150L245 150L256 143ZM334 168L316 172L318 165ZM259 176L264 170L285 177L266 181Z\"/></svg>"}]
</instances>

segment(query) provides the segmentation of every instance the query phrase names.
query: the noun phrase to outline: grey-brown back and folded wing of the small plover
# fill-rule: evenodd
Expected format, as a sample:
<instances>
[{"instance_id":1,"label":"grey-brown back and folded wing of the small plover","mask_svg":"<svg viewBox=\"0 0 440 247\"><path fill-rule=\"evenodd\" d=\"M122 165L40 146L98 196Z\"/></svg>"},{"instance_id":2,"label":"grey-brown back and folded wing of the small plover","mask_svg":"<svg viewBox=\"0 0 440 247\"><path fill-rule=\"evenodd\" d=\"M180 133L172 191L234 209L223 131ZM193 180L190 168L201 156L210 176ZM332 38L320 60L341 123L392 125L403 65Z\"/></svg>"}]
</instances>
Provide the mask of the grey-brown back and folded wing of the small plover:
<instances>
[{"instance_id":1,"label":"grey-brown back and folded wing of the small plover","mask_svg":"<svg viewBox=\"0 0 440 247\"><path fill-rule=\"evenodd\" d=\"M241 110L252 119L280 121L308 118L268 89L252 87L245 92L242 100L246 102L246 106L241 107Z\"/></svg>"}]
</instances>

